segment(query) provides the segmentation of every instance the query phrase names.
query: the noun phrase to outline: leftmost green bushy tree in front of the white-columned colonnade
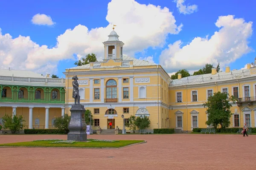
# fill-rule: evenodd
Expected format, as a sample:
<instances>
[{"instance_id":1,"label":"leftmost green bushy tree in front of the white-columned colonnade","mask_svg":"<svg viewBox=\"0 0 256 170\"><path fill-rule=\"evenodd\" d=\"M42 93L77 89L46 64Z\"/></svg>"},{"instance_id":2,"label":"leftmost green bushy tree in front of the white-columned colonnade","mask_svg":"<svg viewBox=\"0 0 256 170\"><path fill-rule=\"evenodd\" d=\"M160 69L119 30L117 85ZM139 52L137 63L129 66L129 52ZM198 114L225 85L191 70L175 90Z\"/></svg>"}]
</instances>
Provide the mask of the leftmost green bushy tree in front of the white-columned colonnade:
<instances>
[{"instance_id":1,"label":"leftmost green bushy tree in front of the white-columned colonnade","mask_svg":"<svg viewBox=\"0 0 256 170\"><path fill-rule=\"evenodd\" d=\"M12 115L5 114L5 116L3 116L3 129L9 129L12 133L16 133L25 126L23 122L25 122L25 120L22 115L13 115L12 118Z\"/></svg>"}]
</instances>

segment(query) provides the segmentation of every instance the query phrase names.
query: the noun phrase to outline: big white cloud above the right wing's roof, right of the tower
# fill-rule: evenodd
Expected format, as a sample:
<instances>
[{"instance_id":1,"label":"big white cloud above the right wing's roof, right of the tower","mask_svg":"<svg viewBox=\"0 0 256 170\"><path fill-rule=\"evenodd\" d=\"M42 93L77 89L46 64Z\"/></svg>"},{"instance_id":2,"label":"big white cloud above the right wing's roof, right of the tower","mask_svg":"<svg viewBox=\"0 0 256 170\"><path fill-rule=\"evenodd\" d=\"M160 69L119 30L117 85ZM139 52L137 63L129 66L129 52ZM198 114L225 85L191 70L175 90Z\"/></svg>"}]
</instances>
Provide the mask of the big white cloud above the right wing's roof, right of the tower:
<instances>
[{"instance_id":1,"label":"big white cloud above the right wing's roof, right of the tower","mask_svg":"<svg viewBox=\"0 0 256 170\"><path fill-rule=\"evenodd\" d=\"M195 37L181 48L181 40L169 44L160 55L160 65L173 72L182 68L198 70L206 63L220 67L234 62L251 49L247 39L252 35L252 22L245 22L233 15L218 17L215 25L219 28L212 37Z\"/></svg>"}]
</instances>

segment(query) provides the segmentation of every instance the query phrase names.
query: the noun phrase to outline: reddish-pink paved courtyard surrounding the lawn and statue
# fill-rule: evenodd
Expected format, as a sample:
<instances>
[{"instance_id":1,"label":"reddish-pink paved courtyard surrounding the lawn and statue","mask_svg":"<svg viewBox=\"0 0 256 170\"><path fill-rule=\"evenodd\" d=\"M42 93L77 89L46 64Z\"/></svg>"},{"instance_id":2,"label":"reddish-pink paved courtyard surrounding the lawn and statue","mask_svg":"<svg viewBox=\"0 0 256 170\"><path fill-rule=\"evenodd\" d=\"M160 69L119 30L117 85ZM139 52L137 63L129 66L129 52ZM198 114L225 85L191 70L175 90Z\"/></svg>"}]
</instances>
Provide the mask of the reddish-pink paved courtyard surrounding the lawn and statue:
<instances>
[{"instance_id":1,"label":"reddish-pink paved courtyard surrounding the lawn and statue","mask_svg":"<svg viewBox=\"0 0 256 170\"><path fill-rule=\"evenodd\" d=\"M1 135L0 143L66 138L66 135ZM0 148L0 169L256 169L256 135L90 135L88 138L143 139L147 143L122 149Z\"/></svg>"}]
</instances>

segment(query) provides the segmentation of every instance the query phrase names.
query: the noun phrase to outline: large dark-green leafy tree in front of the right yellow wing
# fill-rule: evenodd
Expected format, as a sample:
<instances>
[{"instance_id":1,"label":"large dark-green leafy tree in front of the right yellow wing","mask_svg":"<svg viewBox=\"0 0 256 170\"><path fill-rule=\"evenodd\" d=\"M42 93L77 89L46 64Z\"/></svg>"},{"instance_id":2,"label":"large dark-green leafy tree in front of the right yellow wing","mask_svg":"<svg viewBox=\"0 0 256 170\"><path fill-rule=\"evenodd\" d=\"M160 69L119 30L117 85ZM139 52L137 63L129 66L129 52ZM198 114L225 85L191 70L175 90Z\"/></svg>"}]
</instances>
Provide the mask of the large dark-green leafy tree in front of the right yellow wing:
<instances>
[{"instance_id":1,"label":"large dark-green leafy tree in front of the right yellow wing","mask_svg":"<svg viewBox=\"0 0 256 170\"><path fill-rule=\"evenodd\" d=\"M208 113L208 120L205 124L212 125L215 129L218 125L221 125L221 128L228 127L232 115L230 101L234 102L234 97L230 96L228 98L228 94L221 93L220 91L214 93L213 96L209 96L207 102L203 104L204 108L207 108L206 111Z\"/></svg>"}]
</instances>

